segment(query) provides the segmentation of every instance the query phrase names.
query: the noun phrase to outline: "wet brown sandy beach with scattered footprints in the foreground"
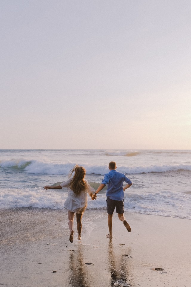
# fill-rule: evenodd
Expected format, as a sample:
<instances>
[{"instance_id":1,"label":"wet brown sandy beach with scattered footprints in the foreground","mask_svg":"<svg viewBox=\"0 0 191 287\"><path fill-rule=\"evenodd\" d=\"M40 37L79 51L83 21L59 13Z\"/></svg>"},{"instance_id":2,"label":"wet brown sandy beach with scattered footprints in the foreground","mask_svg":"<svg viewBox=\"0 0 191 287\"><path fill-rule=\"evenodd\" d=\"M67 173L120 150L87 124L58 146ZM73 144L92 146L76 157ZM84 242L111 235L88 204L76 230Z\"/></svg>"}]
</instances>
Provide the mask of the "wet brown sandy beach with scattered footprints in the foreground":
<instances>
[{"instance_id":1,"label":"wet brown sandy beach with scattered footprints in the foreground","mask_svg":"<svg viewBox=\"0 0 191 287\"><path fill-rule=\"evenodd\" d=\"M86 210L70 243L66 210L0 210L0 285L190 287L191 221L125 215L132 232L114 214L110 240L107 211Z\"/></svg>"}]
</instances>

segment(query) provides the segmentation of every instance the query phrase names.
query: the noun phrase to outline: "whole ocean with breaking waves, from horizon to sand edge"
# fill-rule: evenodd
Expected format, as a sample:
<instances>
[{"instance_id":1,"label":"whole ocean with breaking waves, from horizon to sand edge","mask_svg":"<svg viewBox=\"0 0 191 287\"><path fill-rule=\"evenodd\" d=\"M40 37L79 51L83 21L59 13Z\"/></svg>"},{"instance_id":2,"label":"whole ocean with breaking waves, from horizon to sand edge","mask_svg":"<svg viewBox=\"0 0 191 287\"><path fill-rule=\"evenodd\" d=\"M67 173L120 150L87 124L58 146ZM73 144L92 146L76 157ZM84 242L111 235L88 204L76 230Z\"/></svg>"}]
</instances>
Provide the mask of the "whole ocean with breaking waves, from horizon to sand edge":
<instances>
[{"instance_id":1,"label":"whole ocean with breaking waves, from horizon to sand edge","mask_svg":"<svg viewBox=\"0 0 191 287\"><path fill-rule=\"evenodd\" d=\"M76 165L97 187L115 161L133 186L125 191L125 212L191 219L191 150L0 150L0 208L63 209L67 190L47 190ZM106 210L106 190L89 209Z\"/></svg>"}]
</instances>

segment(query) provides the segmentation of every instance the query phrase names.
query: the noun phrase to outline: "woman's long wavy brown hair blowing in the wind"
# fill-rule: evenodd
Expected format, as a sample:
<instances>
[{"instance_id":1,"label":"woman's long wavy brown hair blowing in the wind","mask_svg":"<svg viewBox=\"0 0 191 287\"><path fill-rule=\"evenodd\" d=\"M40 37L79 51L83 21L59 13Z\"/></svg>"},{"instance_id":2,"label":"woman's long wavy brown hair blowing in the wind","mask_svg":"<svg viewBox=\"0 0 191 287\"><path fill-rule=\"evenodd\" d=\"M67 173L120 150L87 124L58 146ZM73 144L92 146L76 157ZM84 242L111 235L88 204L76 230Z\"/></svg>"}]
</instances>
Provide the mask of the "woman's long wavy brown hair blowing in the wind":
<instances>
[{"instance_id":1,"label":"woman's long wavy brown hair blowing in the wind","mask_svg":"<svg viewBox=\"0 0 191 287\"><path fill-rule=\"evenodd\" d=\"M74 176L70 183L67 185L67 187L73 190L74 193L79 194L86 189L86 182L84 180L86 170L84 167L79 167L78 165L76 165L70 171L69 178L73 174L73 172Z\"/></svg>"}]
</instances>

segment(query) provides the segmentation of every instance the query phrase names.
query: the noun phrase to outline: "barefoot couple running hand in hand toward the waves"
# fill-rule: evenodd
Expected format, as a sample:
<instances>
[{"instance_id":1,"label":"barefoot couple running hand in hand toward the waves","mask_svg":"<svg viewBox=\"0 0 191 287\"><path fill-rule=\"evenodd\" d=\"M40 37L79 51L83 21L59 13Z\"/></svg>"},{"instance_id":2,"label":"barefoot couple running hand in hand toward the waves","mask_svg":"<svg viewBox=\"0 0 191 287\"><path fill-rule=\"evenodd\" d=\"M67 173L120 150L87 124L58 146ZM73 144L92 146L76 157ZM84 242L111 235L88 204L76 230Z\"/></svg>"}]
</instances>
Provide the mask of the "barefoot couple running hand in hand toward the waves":
<instances>
[{"instance_id":1,"label":"barefoot couple running hand in hand toward the waves","mask_svg":"<svg viewBox=\"0 0 191 287\"><path fill-rule=\"evenodd\" d=\"M109 234L107 238L112 238L112 217L116 208L118 218L130 232L130 225L127 223L124 217L124 191L132 185L132 181L122 172L116 171L116 164L114 161L109 163L110 172L104 175L102 183L95 191L85 179L86 170L84 167L76 165L69 174L69 179L62 182L57 186L45 186L44 189L61 189L63 187L68 188L68 197L64 203L64 207L68 210L68 225L70 229L70 242L73 242L73 222L74 215L76 213L78 239L81 239L82 223L81 219L84 211L87 208L87 193L92 200L96 199L97 194L107 185L107 213L108 213L108 227ZM71 175L74 172L73 178ZM123 187L123 182L126 182L126 186Z\"/></svg>"}]
</instances>

